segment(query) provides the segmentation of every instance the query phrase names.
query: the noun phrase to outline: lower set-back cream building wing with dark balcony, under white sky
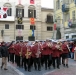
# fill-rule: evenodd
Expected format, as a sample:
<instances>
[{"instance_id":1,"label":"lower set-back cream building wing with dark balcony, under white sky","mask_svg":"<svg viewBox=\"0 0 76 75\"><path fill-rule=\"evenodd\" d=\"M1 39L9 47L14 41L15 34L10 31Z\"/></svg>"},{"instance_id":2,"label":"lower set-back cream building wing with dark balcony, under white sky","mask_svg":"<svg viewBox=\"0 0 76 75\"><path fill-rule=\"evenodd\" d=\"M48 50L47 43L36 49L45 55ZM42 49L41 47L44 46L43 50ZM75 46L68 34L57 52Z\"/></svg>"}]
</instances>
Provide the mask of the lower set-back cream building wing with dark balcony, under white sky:
<instances>
[{"instance_id":1,"label":"lower set-back cream building wing with dark balcony, under white sky","mask_svg":"<svg viewBox=\"0 0 76 75\"><path fill-rule=\"evenodd\" d=\"M53 9L41 8L42 39L53 37Z\"/></svg>"}]
</instances>

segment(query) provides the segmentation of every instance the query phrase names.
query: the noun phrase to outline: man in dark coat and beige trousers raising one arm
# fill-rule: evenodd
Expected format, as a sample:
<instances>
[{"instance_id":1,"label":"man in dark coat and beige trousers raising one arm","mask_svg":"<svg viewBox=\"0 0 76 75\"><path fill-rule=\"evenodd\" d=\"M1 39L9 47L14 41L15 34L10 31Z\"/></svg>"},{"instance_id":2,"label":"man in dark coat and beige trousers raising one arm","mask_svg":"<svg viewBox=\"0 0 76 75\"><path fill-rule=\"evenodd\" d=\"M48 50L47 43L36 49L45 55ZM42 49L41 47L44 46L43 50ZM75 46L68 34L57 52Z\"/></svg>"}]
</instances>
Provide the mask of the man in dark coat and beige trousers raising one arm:
<instances>
[{"instance_id":1,"label":"man in dark coat and beige trousers raising one arm","mask_svg":"<svg viewBox=\"0 0 76 75\"><path fill-rule=\"evenodd\" d=\"M5 65L4 70L7 70L7 59L8 59L8 55L9 55L8 48L12 45L12 43L13 43L13 41L8 46L6 46L5 42L1 43L1 47L0 47L1 54L2 54L1 69Z\"/></svg>"}]
</instances>

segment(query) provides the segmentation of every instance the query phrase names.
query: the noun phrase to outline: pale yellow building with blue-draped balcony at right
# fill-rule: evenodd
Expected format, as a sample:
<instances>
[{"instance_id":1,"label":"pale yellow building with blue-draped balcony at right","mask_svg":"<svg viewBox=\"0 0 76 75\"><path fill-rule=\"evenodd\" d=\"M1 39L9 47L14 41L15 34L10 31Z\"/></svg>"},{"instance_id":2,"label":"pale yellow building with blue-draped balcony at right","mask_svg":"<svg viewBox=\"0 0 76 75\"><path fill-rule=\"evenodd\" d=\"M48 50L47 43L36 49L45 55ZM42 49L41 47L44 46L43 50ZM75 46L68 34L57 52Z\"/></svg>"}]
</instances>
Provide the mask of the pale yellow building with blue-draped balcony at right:
<instances>
[{"instance_id":1,"label":"pale yellow building with blue-draped balcony at right","mask_svg":"<svg viewBox=\"0 0 76 75\"><path fill-rule=\"evenodd\" d=\"M76 38L76 0L54 0L54 23L60 28L61 38Z\"/></svg>"}]
</instances>

